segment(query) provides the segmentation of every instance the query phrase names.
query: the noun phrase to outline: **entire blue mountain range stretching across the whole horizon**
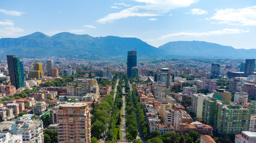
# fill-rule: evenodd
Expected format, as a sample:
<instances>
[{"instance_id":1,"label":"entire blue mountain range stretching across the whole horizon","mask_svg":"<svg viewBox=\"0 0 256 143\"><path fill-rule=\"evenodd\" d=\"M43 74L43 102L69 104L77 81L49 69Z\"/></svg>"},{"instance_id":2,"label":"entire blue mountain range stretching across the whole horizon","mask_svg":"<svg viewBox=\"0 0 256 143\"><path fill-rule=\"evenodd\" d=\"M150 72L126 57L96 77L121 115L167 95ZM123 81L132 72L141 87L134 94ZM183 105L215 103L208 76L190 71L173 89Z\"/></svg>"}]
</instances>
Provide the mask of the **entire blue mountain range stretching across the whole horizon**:
<instances>
[{"instance_id":1,"label":"entire blue mountain range stretching across the whole horizon","mask_svg":"<svg viewBox=\"0 0 256 143\"><path fill-rule=\"evenodd\" d=\"M19 37L0 39L0 56L58 56L90 55L101 57L127 56L135 50L138 56L188 58L255 58L256 49L235 49L204 41L174 41L158 48L138 38L116 36L92 37L68 32L47 36L40 32Z\"/></svg>"}]
</instances>

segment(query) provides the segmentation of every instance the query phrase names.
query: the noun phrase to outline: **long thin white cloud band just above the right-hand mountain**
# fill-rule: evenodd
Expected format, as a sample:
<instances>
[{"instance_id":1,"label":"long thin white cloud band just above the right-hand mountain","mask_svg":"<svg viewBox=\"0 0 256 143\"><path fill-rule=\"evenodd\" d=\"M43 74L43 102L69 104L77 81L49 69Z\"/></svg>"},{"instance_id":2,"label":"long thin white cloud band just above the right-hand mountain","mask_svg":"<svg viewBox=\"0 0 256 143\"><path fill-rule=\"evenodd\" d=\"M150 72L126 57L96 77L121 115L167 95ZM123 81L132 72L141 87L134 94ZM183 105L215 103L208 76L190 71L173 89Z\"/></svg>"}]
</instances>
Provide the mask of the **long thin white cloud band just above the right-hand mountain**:
<instances>
[{"instance_id":1,"label":"long thin white cloud band just above the right-hand mountain","mask_svg":"<svg viewBox=\"0 0 256 143\"><path fill-rule=\"evenodd\" d=\"M197 36L212 36L212 35L221 35L221 34L239 34L244 32L250 32L249 30L244 29L222 29L217 31L209 31L209 32L180 32L180 33L173 33L168 35L163 35L158 39L148 40L148 41L154 41L154 40L164 40L174 37L197 37Z\"/></svg>"}]
</instances>

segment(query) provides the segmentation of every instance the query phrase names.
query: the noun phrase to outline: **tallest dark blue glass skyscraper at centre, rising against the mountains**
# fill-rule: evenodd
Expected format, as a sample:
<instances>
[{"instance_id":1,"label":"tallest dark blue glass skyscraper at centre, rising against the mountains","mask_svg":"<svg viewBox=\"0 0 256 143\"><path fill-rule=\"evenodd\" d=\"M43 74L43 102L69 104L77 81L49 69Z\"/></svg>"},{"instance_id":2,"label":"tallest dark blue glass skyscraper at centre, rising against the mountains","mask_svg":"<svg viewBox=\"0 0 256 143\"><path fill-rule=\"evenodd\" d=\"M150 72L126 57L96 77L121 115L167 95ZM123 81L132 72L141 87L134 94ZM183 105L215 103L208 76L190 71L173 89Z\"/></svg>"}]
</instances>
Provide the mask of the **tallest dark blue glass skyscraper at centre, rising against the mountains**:
<instances>
[{"instance_id":1,"label":"tallest dark blue glass skyscraper at centre, rising against the mountains","mask_svg":"<svg viewBox=\"0 0 256 143\"><path fill-rule=\"evenodd\" d=\"M128 51L127 76L132 76L132 67L137 67L137 51Z\"/></svg>"}]
</instances>

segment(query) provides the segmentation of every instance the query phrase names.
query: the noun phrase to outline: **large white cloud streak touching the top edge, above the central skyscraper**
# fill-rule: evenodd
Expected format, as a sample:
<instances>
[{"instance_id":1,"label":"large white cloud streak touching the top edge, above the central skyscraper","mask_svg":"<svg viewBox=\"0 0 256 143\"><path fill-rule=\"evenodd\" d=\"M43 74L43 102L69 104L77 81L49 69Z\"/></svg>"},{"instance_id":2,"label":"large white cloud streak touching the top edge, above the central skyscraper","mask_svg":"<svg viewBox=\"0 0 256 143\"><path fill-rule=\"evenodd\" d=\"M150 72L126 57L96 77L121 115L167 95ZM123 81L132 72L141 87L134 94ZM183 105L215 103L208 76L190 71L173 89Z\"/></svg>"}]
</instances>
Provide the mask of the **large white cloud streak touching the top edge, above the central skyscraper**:
<instances>
[{"instance_id":1,"label":"large white cloud streak touching the top edge, above the central skyscraper","mask_svg":"<svg viewBox=\"0 0 256 143\"><path fill-rule=\"evenodd\" d=\"M174 8L181 8L190 6L198 0L134 0L145 3L143 6L134 6L132 8L124 9L118 13L111 13L107 16L96 20L99 23L113 22L117 19L127 18L131 16L159 16L169 12Z\"/></svg>"}]
</instances>

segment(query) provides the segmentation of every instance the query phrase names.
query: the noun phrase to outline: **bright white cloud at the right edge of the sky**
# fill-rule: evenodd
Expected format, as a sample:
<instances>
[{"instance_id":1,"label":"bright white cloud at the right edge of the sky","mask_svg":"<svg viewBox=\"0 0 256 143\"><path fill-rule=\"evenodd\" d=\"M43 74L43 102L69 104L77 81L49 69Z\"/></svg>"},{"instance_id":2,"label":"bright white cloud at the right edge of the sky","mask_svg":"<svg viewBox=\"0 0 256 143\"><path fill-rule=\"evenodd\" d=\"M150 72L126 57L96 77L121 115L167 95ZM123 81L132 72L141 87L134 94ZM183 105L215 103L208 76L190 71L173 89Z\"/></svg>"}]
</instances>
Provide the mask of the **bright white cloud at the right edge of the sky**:
<instances>
[{"instance_id":1,"label":"bright white cloud at the right edge of the sky","mask_svg":"<svg viewBox=\"0 0 256 143\"><path fill-rule=\"evenodd\" d=\"M235 23L241 26L256 26L256 6L240 9L216 9L217 13L210 19L226 22L226 24Z\"/></svg>"}]
</instances>

